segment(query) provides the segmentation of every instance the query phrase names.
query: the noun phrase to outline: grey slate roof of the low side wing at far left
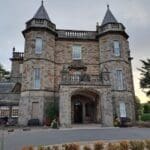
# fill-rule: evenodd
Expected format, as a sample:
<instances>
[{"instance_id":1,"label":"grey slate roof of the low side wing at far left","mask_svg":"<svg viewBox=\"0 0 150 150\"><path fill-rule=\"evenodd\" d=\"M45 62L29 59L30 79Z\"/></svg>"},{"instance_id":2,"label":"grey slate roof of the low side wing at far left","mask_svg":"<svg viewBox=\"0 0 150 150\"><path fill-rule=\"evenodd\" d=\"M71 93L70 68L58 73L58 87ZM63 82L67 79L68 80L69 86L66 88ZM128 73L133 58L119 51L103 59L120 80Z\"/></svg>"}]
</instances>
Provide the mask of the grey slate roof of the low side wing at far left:
<instances>
[{"instance_id":1,"label":"grey slate roof of the low side wing at far left","mask_svg":"<svg viewBox=\"0 0 150 150\"><path fill-rule=\"evenodd\" d=\"M11 82L0 82L0 93L10 93L12 92L15 83Z\"/></svg>"}]
</instances>

